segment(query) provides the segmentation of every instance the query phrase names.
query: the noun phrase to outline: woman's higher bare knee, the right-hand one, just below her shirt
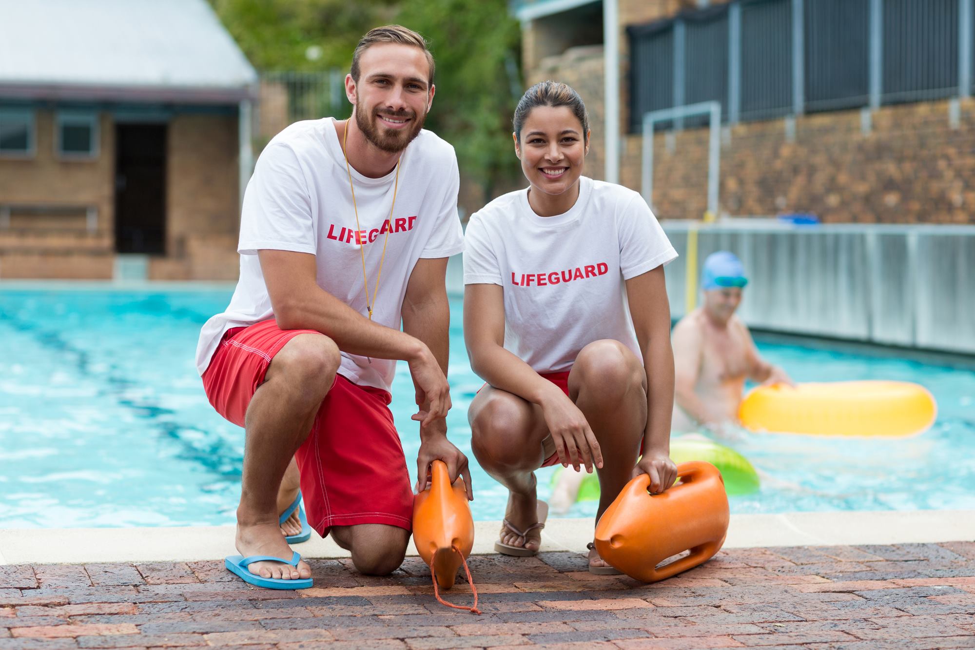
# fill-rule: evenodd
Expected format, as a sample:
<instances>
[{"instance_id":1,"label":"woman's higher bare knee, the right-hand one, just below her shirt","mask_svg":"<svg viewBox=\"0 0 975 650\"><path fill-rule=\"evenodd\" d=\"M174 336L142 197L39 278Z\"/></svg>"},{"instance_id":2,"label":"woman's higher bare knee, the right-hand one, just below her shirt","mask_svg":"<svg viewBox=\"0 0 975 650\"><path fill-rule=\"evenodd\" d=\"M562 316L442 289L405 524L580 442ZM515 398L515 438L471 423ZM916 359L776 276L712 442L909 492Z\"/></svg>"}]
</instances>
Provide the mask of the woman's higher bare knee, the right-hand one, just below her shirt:
<instances>
[{"instance_id":1,"label":"woman's higher bare knee, the right-hand one, just below her shirt","mask_svg":"<svg viewBox=\"0 0 975 650\"><path fill-rule=\"evenodd\" d=\"M636 388L643 388L643 363L618 341L594 341L575 358L573 371L577 389L587 399L606 405L617 404Z\"/></svg>"}]
</instances>

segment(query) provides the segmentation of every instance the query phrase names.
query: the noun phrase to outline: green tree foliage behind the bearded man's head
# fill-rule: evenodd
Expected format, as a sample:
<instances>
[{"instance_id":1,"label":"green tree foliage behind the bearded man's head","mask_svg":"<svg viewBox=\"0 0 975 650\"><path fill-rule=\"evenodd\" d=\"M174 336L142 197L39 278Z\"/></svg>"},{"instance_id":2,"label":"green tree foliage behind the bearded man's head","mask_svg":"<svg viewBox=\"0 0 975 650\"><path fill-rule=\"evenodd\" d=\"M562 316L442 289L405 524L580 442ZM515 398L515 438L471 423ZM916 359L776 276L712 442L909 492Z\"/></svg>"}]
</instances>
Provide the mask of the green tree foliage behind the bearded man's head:
<instances>
[{"instance_id":1,"label":"green tree foliage behind the bearded man's head","mask_svg":"<svg viewBox=\"0 0 975 650\"><path fill-rule=\"evenodd\" d=\"M437 61L427 128L453 144L461 175L487 196L518 174L510 134L521 94L520 30L505 0L210 1L262 71L347 70L371 27L399 22L418 31Z\"/></svg>"}]
</instances>

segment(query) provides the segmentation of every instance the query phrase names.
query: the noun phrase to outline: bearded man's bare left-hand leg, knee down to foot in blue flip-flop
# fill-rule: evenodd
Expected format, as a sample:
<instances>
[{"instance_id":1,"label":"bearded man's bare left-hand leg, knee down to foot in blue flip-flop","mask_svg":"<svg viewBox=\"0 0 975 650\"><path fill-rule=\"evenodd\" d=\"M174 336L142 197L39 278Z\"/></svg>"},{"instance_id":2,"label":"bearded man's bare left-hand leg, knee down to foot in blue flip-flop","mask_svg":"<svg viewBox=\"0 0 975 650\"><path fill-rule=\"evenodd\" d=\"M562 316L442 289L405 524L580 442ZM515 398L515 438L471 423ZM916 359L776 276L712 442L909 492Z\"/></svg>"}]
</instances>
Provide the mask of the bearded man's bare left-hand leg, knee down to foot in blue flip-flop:
<instances>
[{"instance_id":1,"label":"bearded man's bare left-hand leg, knee down to foot in blue flip-flop","mask_svg":"<svg viewBox=\"0 0 975 650\"><path fill-rule=\"evenodd\" d=\"M245 416L244 475L237 508L237 550L291 559L278 523L279 487L292 457L314 422L338 371L338 347L328 337L299 334L271 360ZM292 496L292 501L294 497ZM264 578L310 578L306 563L254 562Z\"/></svg>"}]
</instances>

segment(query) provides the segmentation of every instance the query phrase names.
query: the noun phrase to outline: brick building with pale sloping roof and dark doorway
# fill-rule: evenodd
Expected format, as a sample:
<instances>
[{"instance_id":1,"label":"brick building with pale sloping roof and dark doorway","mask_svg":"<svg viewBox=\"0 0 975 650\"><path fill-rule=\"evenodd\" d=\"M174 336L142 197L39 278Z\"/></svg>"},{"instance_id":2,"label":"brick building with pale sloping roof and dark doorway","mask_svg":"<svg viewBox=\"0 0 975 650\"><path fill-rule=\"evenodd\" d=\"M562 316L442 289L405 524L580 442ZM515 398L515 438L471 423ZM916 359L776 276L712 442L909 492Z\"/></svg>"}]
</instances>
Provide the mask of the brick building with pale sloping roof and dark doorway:
<instances>
[{"instance_id":1,"label":"brick building with pale sloping roof and dark doorway","mask_svg":"<svg viewBox=\"0 0 975 650\"><path fill-rule=\"evenodd\" d=\"M236 278L257 75L206 1L0 17L0 278Z\"/></svg>"}]
</instances>

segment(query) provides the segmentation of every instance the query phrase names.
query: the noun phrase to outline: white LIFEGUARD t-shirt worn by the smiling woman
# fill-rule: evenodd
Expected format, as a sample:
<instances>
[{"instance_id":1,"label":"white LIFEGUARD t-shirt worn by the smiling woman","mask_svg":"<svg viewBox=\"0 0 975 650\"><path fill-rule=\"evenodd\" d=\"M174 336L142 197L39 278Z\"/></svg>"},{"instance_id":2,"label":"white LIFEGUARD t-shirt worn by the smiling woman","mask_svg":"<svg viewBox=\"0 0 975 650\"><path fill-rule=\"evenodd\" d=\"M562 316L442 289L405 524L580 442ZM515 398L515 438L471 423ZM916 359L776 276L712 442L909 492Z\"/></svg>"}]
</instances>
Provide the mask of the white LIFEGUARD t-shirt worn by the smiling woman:
<instances>
[{"instance_id":1,"label":"white LIFEGUARD t-shirt worn by the smiling woman","mask_svg":"<svg viewBox=\"0 0 975 650\"><path fill-rule=\"evenodd\" d=\"M568 212L539 217L522 189L475 213L464 238L464 284L504 288L504 346L536 372L569 370L601 339L643 358L624 280L677 252L640 194L582 177Z\"/></svg>"}]
</instances>

